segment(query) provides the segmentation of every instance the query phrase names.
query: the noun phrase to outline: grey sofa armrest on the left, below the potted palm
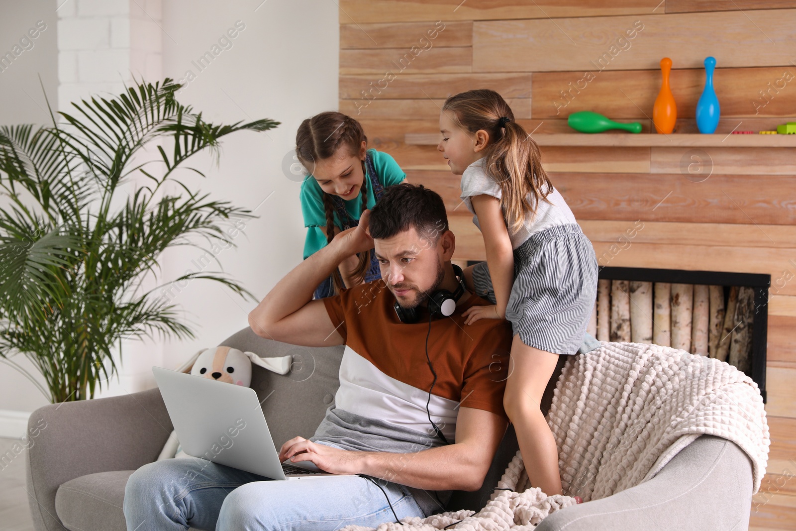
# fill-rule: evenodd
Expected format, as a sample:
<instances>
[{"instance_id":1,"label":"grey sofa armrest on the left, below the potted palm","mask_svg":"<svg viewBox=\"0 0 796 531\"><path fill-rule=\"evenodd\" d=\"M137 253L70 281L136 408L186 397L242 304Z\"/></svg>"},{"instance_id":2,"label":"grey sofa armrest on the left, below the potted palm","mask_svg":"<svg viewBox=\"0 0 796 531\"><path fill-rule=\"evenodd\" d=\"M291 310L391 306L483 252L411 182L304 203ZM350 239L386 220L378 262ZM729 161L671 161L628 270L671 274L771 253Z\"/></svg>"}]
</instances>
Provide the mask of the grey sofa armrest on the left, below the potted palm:
<instances>
[{"instance_id":1,"label":"grey sofa armrest on the left, below the potted palm","mask_svg":"<svg viewBox=\"0 0 796 531\"><path fill-rule=\"evenodd\" d=\"M172 429L157 388L38 408L28 421L25 452L34 527L65 529L55 510L55 494L62 483L151 463Z\"/></svg>"}]
</instances>

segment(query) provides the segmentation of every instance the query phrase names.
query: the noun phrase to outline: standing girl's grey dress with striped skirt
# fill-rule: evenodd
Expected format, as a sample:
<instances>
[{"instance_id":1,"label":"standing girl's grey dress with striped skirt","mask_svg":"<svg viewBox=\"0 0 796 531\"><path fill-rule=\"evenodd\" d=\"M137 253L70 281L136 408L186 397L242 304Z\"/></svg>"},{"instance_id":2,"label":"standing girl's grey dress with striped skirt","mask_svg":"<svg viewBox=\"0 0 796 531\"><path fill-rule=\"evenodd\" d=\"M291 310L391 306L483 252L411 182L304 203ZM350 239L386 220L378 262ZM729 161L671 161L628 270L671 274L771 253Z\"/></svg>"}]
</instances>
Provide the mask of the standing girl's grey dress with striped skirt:
<instances>
[{"instance_id":1,"label":"standing girl's grey dress with striped skirt","mask_svg":"<svg viewBox=\"0 0 796 531\"><path fill-rule=\"evenodd\" d=\"M478 229L470 198L501 197L501 188L486 174L486 158L462 173L461 199ZM509 232L514 251L514 283L505 309L513 334L525 345L556 354L586 353L599 346L586 328L597 298L597 256L564 197L553 187L548 201L538 201L535 215ZM496 304L486 261L473 267L476 295Z\"/></svg>"}]
</instances>

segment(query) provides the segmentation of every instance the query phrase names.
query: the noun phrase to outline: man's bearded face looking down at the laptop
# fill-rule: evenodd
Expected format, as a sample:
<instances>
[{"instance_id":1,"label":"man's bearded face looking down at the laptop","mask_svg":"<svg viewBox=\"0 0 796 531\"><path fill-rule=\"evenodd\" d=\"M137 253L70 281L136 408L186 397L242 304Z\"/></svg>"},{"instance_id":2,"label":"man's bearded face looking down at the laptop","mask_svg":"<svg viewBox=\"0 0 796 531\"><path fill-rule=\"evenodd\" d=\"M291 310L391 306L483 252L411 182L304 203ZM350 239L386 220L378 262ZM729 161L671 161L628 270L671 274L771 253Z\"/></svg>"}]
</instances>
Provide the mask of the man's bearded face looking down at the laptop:
<instances>
[{"instance_id":1,"label":"man's bearded face looking down at the laptop","mask_svg":"<svg viewBox=\"0 0 796 531\"><path fill-rule=\"evenodd\" d=\"M414 308L425 303L443 281L445 269L438 244L423 239L414 227L391 238L373 240L381 278L400 306Z\"/></svg>"}]
</instances>

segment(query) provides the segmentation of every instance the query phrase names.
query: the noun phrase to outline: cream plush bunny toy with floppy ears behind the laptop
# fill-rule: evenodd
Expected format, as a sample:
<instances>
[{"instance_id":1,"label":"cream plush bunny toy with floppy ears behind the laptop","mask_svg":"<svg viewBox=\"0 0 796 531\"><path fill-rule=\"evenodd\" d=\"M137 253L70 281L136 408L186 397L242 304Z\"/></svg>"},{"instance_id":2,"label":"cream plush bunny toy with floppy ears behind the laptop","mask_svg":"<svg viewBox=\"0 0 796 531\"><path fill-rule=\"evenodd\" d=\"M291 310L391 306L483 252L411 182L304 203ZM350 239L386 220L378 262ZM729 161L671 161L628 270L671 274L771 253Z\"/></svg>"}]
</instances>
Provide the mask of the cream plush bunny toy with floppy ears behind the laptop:
<instances>
[{"instance_id":1,"label":"cream plush bunny toy with floppy ears behind the laptop","mask_svg":"<svg viewBox=\"0 0 796 531\"><path fill-rule=\"evenodd\" d=\"M228 346L200 350L177 370L210 380L248 387L252 383L252 363L278 374L287 374L291 370L290 356L259 357L256 353L242 352ZM158 461L172 457L190 457L182 451L174 431L166 440L166 446L158 455Z\"/></svg>"}]
</instances>

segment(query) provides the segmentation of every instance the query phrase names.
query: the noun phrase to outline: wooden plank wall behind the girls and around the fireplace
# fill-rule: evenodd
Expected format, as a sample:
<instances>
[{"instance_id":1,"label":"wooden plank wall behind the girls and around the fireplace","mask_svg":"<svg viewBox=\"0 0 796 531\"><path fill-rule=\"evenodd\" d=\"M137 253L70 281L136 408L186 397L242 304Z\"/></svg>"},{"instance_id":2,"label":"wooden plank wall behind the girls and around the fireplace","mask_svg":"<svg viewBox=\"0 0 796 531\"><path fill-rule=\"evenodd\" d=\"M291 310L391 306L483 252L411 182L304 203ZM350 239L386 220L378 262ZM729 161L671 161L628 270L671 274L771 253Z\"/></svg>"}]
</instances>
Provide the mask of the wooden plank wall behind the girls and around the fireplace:
<instances>
[{"instance_id":1,"label":"wooden plank wall behind the girls and around the fireplace","mask_svg":"<svg viewBox=\"0 0 796 531\"><path fill-rule=\"evenodd\" d=\"M658 63L671 57L676 132L697 132L712 55L718 133L796 120L796 0L341 0L340 22L340 111L410 182L445 198L460 260L484 260L484 249L459 177L435 146L404 143L439 134L447 96L492 88L529 132L572 132L566 117L582 110L649 132ZM564 146L542 156L600 264L771 274L772 445L750 525L796 528L796 148Z\"/></svg>"}]
</instances>

